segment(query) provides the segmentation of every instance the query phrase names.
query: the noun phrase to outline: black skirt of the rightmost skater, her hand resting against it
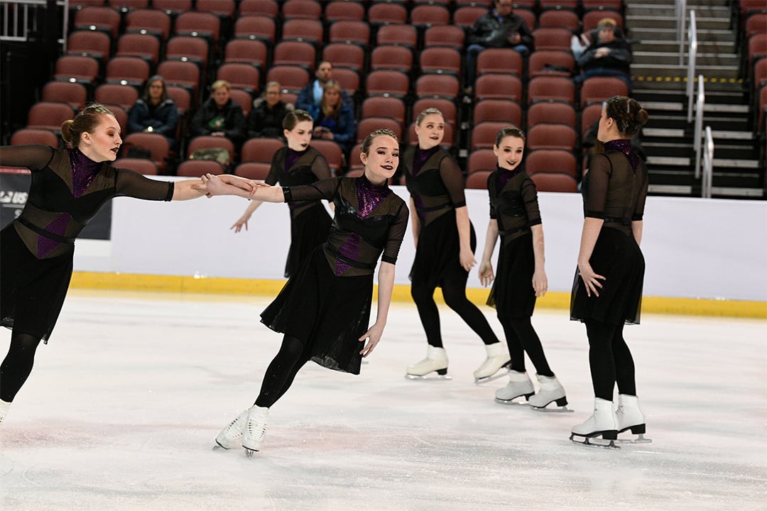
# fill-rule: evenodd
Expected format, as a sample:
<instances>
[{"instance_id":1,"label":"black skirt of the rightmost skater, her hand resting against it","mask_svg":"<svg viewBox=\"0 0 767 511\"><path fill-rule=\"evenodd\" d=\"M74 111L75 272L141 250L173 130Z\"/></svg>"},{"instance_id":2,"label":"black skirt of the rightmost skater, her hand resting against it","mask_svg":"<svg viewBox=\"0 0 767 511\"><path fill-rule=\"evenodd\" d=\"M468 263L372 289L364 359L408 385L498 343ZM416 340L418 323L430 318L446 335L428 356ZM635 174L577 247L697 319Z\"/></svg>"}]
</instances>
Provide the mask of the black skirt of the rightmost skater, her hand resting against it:
<instances>
[{"instance_id":1,"label":"black skirt of the rightmost skater, her hand resting against it","mask_svg":"<svg viewBox=\"0 0 767 511\"><path fill-rule=\"evenodd\" d=\"M602 228L591 254L591 268L605 280L599 296L586 294L575 270L570 319L596 319L610 325L639 324L644 282L644 256L633 236L616 228Z\"/></svg>"}]
</instances>

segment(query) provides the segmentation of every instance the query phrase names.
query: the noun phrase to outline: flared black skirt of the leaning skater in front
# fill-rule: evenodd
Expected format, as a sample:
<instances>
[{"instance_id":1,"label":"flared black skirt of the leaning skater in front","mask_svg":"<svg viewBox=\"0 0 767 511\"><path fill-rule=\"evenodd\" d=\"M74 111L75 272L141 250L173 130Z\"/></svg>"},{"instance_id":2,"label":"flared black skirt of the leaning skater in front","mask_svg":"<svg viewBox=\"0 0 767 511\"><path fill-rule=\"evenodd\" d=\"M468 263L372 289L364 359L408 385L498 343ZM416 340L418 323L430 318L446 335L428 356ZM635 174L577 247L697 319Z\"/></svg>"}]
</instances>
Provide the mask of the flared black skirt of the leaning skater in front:
<instances>
[{"instance_id":1,"label":"flared black skirt of the leaning skater in front","mask_svg":"<svg viewBox=\"0 0 767 511\"><path fill-rule=\"evenodd\" d=\"M367 332L372 299L372 274L336 277L323 248L316 247L261 313L261 321L304 342L319 365L358 375L364 346L358 339Z\"/></svg>"}]
</instances>

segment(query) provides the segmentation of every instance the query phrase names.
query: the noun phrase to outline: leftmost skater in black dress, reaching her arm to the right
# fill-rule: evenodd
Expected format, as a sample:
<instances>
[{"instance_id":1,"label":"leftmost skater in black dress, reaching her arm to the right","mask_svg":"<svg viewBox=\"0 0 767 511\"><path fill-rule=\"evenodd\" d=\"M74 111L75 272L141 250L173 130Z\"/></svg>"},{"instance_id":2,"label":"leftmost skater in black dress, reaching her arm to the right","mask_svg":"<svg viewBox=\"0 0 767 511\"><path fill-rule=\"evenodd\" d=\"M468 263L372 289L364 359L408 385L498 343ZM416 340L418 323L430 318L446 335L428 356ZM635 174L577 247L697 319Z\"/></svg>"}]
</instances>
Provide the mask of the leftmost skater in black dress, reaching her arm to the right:
<instances>
[{"instance_id":1,"label":"leftmost skater in black dress, reaching her arm to the right","mask_svg":"<svg viewBox=\"0 0 767 511\"><path fill-rule=\"evenodd\" d=\"M183 201L204 195L199 179L166 182L115 169L122 144L120 125L97 103L61 126L74 149L0 147L2 165L26 167L31 186L21 215L0 232L0 325L12 329L0 365L0 423L24 385L41 340L48 342L72 275L74 240L110 198ZM234 176L228 182L252 188Z\"/></svg>"}]
</instances>

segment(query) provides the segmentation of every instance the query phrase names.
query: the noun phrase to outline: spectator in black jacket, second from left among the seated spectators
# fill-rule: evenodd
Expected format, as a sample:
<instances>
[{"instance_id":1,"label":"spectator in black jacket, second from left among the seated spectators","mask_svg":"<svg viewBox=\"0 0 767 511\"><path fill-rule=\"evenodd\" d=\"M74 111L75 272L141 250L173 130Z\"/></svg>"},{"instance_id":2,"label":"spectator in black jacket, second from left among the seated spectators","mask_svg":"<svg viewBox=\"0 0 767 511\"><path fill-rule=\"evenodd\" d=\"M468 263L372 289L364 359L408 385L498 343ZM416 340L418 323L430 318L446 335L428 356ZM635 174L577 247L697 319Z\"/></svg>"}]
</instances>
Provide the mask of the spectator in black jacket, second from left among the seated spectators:
<instances>
[{"instance_id":1,"label":"spectator in black jacket, second from left among the seated spectators","mask_svg":"<svg viewBox=\"0 0 767 511\"><path fill-rule=\"evenodd\" d=\"M192 136L225 136L235 146L245 139L245 114L242 106L229 97L232 85L226 80L216 80L210 86L210 97L194 114L189 129Z\"/></svg>"}]
</instances>

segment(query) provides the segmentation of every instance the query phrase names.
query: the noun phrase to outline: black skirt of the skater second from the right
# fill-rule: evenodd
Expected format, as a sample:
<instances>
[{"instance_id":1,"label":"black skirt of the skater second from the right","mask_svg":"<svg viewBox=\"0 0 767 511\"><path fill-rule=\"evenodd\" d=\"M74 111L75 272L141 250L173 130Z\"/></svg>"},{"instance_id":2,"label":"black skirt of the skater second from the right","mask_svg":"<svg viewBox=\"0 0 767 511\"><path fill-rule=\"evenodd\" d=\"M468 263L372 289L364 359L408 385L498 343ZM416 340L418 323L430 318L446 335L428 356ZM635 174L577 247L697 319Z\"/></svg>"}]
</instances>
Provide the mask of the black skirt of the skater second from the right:
<instances>
[{"instance_id":1,"label":"black skirt of the skater second from the right","mask_svg":"<svg viewBox=\"0 0 767 511\"><path fill-rule=\"evenodd\" d=\"M495 280L487 304L495 307L499 317L523 318L532 316L535 309L535 290L532 274L535 272L535 252L532 234L517 237L501 244Z\"/></svg>"}]
</instances>

